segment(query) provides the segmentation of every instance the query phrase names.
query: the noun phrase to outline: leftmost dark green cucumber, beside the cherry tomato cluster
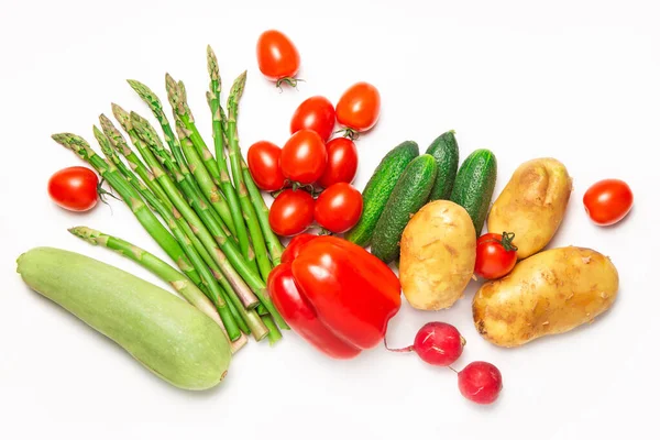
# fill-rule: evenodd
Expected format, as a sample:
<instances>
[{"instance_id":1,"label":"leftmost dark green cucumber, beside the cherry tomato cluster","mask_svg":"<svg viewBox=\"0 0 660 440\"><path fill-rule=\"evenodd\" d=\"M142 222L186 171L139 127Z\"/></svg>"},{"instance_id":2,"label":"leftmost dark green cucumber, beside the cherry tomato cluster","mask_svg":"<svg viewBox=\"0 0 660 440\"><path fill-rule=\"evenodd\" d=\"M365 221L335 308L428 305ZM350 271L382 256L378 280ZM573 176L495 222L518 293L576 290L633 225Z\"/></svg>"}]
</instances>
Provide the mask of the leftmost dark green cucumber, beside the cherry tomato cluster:
<instances>
[{"instance_id":1,"label":"leftmost dark green cucumber, beside the cherry tomato cluster","mask_svg":"<svg viewBox=\"0 0 660 440\"><path fill-rule=\"evenodd\" d=\"M374 228L385 209L389 195L406 166L419 155L419 146L413 141L400 143L383 157L362 191L363 209L358 224L345 234L345 239L361 246L372 240Z\"/></svg>"}]
</instances>

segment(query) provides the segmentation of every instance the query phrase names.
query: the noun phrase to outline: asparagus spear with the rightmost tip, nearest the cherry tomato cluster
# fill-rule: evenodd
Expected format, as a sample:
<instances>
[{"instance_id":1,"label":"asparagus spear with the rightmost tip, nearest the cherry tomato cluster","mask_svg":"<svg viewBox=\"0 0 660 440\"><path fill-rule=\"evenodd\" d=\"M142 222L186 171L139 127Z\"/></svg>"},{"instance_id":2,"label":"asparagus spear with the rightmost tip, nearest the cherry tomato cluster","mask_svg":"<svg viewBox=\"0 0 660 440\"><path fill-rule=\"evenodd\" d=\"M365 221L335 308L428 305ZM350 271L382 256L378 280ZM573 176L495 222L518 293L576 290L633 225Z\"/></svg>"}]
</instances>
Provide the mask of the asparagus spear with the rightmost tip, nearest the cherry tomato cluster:
<instances>
[{"instance_id":1,"label":"asparagus spear with the rightmost tip, nearest the cherry tomato cluster","mask_svg":"<svg viewBox=\"0 0 660 440\"><path fill-rule=\"evenodd\" d=\"M256 212L254 207L250 202L248 196L248 188L243 180L243 172L241 168L241 148L239 146L239 133L237 129L237 117L239 114L239 99L243 95L245 88L245 78L248 73L242 73L231 87L228 100L229 118L227 119L227 127L224 133L229 142L229 160L231 163L231 174L234 180L234 186L239 193L239 200L243 210L243 217L245 223L248 223L248 230L252 238L252 245L254 246L254 253L256 255L256 263L263 279L268 278L272 266L266 252L266 244L264 242L264 235L256 220Z\"/></svg>"}]
</instances>

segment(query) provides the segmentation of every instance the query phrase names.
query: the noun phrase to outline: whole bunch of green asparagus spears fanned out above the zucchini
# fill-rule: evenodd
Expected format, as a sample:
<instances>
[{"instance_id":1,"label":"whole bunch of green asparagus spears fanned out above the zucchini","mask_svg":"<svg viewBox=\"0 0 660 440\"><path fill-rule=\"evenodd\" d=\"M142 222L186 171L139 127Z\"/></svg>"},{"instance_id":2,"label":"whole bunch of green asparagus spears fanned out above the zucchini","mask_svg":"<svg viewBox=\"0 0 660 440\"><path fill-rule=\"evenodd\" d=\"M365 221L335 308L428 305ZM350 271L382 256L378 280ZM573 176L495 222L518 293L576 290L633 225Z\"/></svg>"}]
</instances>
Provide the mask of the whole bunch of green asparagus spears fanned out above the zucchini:
<instances>
[{"instance_id":1,"label":"whole bunch of green asparagus spears fanned out above the zucchini","mask_svg":"<svg viewBox=\"0 0 660 440\"><path fill-rule=\"evenodd\" d=\"M270 228L268 208L239 145L237 118L246 74L233 82L224 111L218 62L210 46L207 64L215 155L195 124L184 84L169 75L166 89L174 130L158 97L144 84L129 80L158 121L167 146L146 119L114 103L112 113L132 147L105 114L99 117L101 129L94 127L105 157L76 134L53 139L108 182L179 270L119 238L86 227L69 231L130 257L169 283L223 327L235 352L248 342L246 336L257 341L267 337L273 344L282 338L279 329L288 329L265 283L279 264L283 246ZM215 309L208 307L209 300Z\"/></svg>"}]
</instances>

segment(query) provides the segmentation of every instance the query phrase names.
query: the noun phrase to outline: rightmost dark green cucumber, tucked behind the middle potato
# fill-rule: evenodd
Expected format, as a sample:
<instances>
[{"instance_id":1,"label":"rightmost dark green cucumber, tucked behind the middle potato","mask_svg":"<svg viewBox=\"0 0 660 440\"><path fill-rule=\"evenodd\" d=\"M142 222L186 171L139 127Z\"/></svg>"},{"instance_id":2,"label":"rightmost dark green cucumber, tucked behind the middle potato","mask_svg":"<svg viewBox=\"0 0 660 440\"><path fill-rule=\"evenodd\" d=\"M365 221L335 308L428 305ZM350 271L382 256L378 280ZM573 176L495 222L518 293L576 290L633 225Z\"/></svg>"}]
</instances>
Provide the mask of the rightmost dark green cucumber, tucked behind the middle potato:
<instances>
[{"instance_id":1,"label":"rightmost dark green cucumber, tucked behind the middle potato","mask_svg":"<svg viewBox=\"0 0 660 440\"><path fill-rule=\"evenodd\" d=\"M497 161L490 150L476 150L461 164L450 200L465 208L476 237L481 235L497 178Z\"/></svg>"}]
</instances>

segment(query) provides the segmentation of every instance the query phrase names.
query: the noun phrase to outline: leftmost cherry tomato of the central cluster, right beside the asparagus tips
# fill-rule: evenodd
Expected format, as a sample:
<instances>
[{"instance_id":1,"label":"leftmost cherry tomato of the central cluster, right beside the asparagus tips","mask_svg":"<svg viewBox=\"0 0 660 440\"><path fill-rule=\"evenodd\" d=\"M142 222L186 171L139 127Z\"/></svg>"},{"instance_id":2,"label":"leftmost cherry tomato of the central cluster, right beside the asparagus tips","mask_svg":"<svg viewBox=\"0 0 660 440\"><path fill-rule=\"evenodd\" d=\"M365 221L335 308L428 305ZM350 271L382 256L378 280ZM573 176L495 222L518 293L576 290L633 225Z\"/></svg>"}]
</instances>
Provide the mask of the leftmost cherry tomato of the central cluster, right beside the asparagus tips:
<instances>
[{"instance_id":1,"label":"leftmost cherry tomato of the central cluster, right beside the asparagus tips","mask_svg":"<svg viewBox=\"0 0 660 440\"><path fill-rule=\"evenodd\" d=\"M248 167L256 186L265 191L284 188L284 174L279 169L282 148L268 141L260 141L248 150Z\"/></svg>"}]
</instances>

